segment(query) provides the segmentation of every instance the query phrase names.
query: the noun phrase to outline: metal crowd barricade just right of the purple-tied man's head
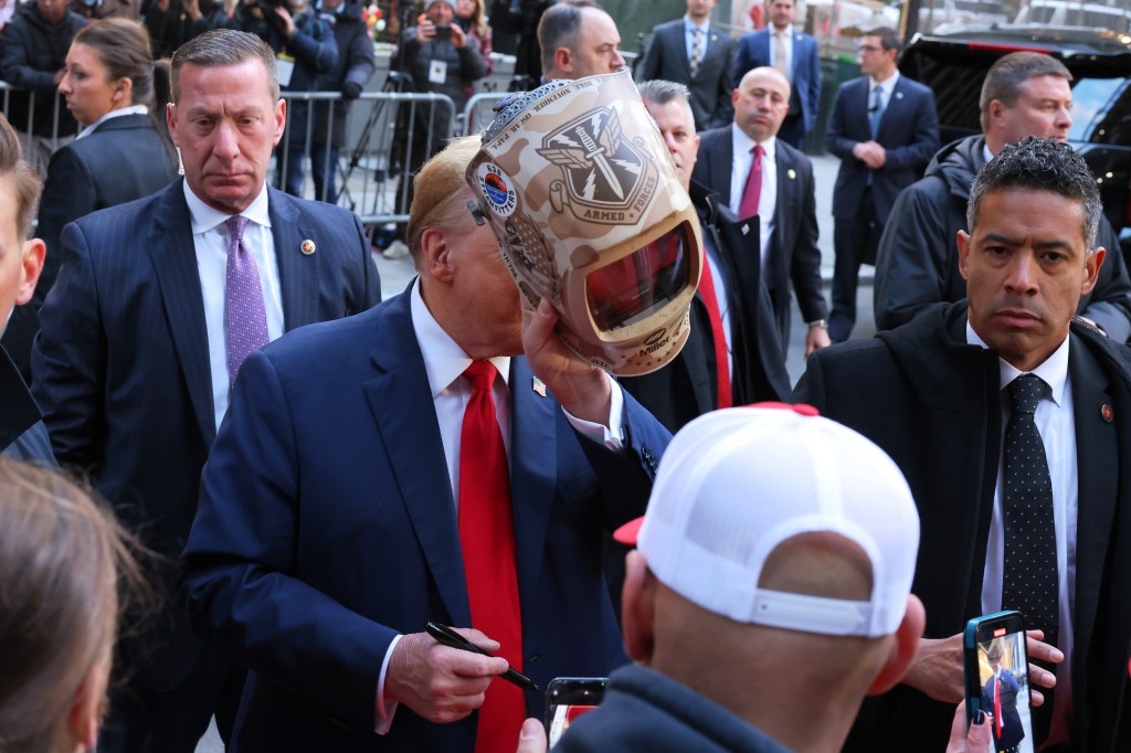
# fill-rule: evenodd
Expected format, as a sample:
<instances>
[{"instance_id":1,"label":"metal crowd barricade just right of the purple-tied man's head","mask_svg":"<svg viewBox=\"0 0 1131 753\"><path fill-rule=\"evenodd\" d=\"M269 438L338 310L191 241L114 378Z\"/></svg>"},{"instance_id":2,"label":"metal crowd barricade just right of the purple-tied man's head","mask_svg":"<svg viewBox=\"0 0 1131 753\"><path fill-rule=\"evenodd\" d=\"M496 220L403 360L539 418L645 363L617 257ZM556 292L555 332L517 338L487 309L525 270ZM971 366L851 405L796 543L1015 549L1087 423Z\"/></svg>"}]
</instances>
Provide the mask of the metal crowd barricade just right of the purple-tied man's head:
<instances>
[{"instance_id":1,"label":"metal crowd barricade just right of the purple-tied man's head","mask_svg":"<svg viewBox=\"0 0 1131 753\"><path fill-rule=\"evenodd\" d=\"M287 127L291 127L296 113L304 115L303 154L313 154L316 138L319 141L330 140L335 124L333 102L340 96L335 92L284 92ZM316 107L316 103L320 106ZM320 129L323 132L316 133L319 124L316 110L321 107L329 112ZM300 122L302 120L300 118ZM447 138L459 132L456 121L455 103L441 94L362 93L346 115L346 142L340 148L337 164L328 164L328 150L322 157L327 161L325 174L335 175L337 204L355 211L369 225L407 222L408 178L414 168L411 156L414 150L418 157L442 149ZM424 142L421 142L422 138ZM284 184L278 176L287 174L291 161L302 158L293 139L294 135L285 133L276 149L275 173L271 176L275 185ZM418 167L415 165L415 168ZM303 172L302 196L325 199L328 185L323 187L323 196L316 196L307 165Z\"/></svg>"}]
</instances>

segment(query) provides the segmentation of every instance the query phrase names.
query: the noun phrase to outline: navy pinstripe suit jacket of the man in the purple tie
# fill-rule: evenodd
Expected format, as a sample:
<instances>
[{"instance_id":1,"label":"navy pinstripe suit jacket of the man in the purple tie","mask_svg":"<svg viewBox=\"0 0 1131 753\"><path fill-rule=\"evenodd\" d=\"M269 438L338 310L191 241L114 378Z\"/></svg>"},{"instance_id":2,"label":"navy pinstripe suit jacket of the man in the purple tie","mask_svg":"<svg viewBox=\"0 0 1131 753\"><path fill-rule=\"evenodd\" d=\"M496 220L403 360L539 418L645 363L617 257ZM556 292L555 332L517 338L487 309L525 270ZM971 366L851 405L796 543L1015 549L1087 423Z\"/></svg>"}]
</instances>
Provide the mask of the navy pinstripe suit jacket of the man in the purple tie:
<instances>
[{"instance_id":1,"label":"navy pinstripe suit jacket of the man in the purple tie","mask_svg":"<svg viewBox=\"0 0 1131 753\"><path fill-rule=\"evenodd\" d=\"M208 339L181 181L66 227L41 312L33 392L60 465L88 473L128 528L175 561L216 436ZM380 282L349 211L268 189L286 329L363 311ZM313 240L314 253L301 243ZM161 572L175 592L176 572ZM138 683L174 685L197 641L188 620L155 625L165 651ZM145 642L145 641L143 641Z\"/></svg>"}]
</instances>

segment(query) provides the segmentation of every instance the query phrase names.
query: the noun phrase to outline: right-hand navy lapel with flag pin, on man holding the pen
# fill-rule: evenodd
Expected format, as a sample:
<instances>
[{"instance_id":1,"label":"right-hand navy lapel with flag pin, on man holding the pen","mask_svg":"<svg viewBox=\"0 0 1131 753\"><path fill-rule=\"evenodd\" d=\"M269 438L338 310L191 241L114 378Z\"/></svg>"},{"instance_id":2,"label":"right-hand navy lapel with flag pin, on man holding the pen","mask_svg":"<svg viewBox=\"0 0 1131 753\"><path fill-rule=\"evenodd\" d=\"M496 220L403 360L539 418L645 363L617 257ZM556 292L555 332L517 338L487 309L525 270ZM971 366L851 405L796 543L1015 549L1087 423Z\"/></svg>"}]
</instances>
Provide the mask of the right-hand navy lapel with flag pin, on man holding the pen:
<instances>
[{"instance_id":1,"label":"right-hand navy lapel with flag pin, on man holding the pen","mask_svg":"<svg viewBox=\"0 0 1131 753\"><path fill-rule=\"evenodd\" d=\"M510 496L521 604L533 605L558 484L558 401L533 389L526 358L510 361Z\"/></svg>"}]
</instances>

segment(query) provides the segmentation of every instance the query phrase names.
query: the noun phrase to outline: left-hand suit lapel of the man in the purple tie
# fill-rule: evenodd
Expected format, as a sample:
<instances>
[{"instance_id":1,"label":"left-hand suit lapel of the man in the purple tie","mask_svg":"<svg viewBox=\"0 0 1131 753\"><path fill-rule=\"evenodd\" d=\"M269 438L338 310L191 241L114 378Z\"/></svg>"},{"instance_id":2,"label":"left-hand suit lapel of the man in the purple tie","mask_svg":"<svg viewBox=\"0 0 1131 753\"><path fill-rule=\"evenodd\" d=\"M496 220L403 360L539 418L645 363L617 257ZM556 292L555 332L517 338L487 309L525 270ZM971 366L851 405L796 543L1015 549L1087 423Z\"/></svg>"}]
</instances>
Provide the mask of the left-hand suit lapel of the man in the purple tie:
<instances>
[{"instance_id":1,"label":"left-hand suit lapel of the man in the purple tie","mask_svg":"<svg viewBox=\"0 0 1131 753\"><path fill-rule=\"evenodd\" d=\"M197 252L192 243L192 223L182 181L164 189L153 218L153 234L145 246L161 288L165 318L192 403L192 413L205 444L210 447L216 439L216 407L208 361L208 331Z\"/></svg>"}]
</instances>

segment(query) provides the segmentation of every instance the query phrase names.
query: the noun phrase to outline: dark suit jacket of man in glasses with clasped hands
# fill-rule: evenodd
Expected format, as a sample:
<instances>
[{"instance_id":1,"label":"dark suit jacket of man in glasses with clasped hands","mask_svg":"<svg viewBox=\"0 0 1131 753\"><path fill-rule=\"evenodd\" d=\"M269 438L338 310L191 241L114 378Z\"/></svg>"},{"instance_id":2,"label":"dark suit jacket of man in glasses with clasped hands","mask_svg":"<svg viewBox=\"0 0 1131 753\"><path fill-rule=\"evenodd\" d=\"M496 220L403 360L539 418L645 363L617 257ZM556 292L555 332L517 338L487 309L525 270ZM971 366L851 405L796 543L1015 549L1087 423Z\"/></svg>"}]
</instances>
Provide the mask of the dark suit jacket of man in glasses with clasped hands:
<instances>
[{"instance_id":1,"label":"dark suit jacket of man in glasses with clasped hands","mask_svg":"<svg viewBox=\"0 0 1131 753\"><path fill-rule=\"evenodd\" d=\"M889 102L883 105L875 141L887 150L883 166L870 171L852 148L872 140L869 107L871 77L861 76L840 85L824 148L840 157L840 171L832 189L832 216L851 219L860 209L867 174L872 173L872 201L880 223L887 223L899 192L923 175L923 168L939 150L939 115L934 94L918 81L900 76Z\"/></svg>"}]
</instances>

